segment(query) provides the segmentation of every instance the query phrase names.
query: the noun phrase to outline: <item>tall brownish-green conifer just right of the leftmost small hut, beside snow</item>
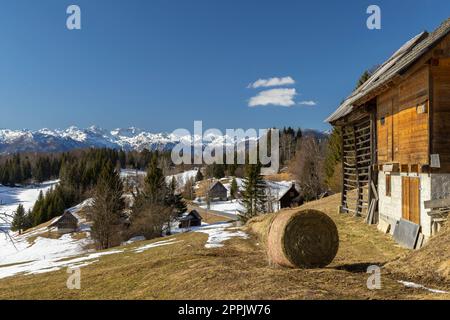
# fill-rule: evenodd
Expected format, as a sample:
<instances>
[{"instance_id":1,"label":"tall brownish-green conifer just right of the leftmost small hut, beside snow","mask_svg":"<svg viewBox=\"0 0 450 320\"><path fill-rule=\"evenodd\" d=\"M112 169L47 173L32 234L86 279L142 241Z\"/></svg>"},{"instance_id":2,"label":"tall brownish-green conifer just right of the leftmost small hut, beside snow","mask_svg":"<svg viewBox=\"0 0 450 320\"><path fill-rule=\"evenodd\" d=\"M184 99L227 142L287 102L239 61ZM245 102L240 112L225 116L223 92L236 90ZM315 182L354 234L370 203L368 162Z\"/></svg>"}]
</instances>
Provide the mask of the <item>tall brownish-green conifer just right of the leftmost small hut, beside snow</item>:
<instances>
[{"instance_id":1,"label":"tall brownish-green conifer just right of the leftmost small hut, beside snow","mask_svg":"<svg viewBox=\"0 0 450 320\"><path fill-rule=\"evenodd\" d=\"M125 203L120 174L111 163L106 162L100 173L94 191L92 206L92 237L101 249L107 249L121 242L121 218Z\"/></svg>"}]
</instances>

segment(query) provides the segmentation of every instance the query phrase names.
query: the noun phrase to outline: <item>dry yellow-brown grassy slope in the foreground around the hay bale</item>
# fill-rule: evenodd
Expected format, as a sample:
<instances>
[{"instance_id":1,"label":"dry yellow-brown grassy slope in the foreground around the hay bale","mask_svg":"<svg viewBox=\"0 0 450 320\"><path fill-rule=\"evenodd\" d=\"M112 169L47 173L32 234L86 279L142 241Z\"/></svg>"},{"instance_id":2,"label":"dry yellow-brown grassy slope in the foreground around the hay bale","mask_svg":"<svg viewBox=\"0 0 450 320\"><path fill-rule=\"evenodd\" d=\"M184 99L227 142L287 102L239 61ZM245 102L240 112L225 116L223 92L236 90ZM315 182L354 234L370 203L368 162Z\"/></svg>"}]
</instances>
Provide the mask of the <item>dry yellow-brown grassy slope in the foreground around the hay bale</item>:
<instances>
[{"instance_id":1,"label":"dry yellow-brown grassy slope in the foreground around the hay bale","mask_svg":"<svg viewBox=\"0 0 450 320\"><path fill-rule=\"evenodd\" d=\"M338 196L305 207L336 221L338 256L327 268L294 270L269 266L259 240L232 239L207 249L207 235L185 233L168 246L104 256L82 268L81 290L66 288L65 270L0 280L2 299L411 299L444 298L407 289L382 275L383 288L366 288L369 264L384 264L404 253L388 236L361 219L336 214ZM154 240L157 241L157 240ZM149 241L148 243L154 242ZM147 243L147 242L144 242ZM144 243L128 246L133 248ZM449 298L447 296L447 298Z\"/></svg>"}]
</instances>

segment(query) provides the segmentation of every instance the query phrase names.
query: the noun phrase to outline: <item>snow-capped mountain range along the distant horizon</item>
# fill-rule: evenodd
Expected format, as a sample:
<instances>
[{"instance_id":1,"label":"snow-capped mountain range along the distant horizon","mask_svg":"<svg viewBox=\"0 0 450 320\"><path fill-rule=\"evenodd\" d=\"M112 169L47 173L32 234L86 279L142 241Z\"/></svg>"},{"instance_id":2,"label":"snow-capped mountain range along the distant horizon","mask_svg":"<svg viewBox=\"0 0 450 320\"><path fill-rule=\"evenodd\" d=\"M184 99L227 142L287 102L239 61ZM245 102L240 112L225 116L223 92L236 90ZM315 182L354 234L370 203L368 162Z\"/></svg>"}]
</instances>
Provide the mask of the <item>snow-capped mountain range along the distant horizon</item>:
<instances>
[{"instance_id":1,"label":"snow-capped mountain range along the distant horizon","mask_svg":"<svg viewBox=\"0 0 450 320\"><path fill-rule=\"evenodd\" d=\"M305 130L307 134L325 136L326 133ZM210 136L202 141L203 146L223 144L225 136ZM239 143L241 141L235 141ZM178 143L191 144L190 136L171 133L150 133L138 128L114 129L111 131L91 126L87 129L69 127L64 130L10 130L0 129L0 154L16 152L61 152L82 148L113 148L126 151L171 150Z\"/></svg>"}]
</instances>

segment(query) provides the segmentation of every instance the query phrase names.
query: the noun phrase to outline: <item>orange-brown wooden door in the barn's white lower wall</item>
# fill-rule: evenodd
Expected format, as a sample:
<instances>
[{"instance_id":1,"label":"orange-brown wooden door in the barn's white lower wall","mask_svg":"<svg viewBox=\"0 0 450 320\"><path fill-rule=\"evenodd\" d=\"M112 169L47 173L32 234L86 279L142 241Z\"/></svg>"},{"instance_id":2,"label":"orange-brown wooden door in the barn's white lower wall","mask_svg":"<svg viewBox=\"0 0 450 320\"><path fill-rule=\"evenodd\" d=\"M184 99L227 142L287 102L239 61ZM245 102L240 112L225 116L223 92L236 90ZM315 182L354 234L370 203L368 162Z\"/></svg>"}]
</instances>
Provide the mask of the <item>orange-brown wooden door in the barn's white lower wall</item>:
<instances>
[{"instance_id":1,"label":"orange-brown wooden door in the barn's white lower wall","mask_svg":"<svg viewBox=\"0 0 450 320\"><path fill-rule=\"evenodd\" d=\"M402 177L402 217L420 224L420 178Z\"/></svg>"}]
</instances>

